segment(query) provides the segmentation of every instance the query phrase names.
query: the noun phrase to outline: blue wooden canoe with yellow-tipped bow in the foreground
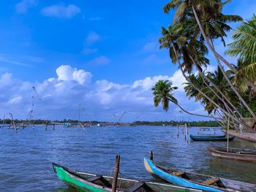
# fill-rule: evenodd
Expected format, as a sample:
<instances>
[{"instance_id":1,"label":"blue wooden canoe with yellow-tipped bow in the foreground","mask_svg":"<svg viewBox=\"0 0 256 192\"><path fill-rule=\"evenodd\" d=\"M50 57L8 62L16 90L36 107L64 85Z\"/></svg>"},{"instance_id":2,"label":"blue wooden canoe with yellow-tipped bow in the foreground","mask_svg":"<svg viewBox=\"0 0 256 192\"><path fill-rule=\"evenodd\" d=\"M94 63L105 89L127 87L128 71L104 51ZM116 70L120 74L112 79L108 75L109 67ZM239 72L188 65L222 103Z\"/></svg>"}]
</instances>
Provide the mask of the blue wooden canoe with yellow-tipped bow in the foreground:
<instances>
[{"instance_id":1,"label":"blue wooden canoe with yellow-tipped bow in the foreground","mask_svg":"<svg viewBox=\"0 0 256 192\"><path fill-rule=\"evenodd\" d=\"M167 169L153 160L144 158L144 164L148 172L162 178L163 180L181 185L187 188L195 188L203 191L256 191L256 185L236 180L228 180L221 177L213 177L206 174L183 172L176 169Z\"/></svg>"}]
</instances>

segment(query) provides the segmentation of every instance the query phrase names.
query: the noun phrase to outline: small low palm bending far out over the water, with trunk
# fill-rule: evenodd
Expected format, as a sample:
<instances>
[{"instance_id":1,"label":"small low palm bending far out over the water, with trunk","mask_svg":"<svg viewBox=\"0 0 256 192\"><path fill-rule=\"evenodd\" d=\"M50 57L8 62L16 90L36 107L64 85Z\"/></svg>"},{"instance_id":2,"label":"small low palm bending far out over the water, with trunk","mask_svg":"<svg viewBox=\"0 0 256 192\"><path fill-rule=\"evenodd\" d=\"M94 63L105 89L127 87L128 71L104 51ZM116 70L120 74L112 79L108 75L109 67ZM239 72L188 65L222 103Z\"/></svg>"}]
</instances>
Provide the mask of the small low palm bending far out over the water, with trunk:
<instances>
[{"instance_id":1,"label":"small low palm bending far out over the water, with trunk","mask_svg":"<svg viewBox=\"0 0 256 192\"><path fill-rule=\"evenodd\" d=\"M162 103L162 108L167 112L167 110L169 110L169 104L171 101L173 102L173 104L176 104L182 111L186 112L189 115L197 115L204 118L211 118L211 116L209 115L199 115L184 110L184 108L178 104L177 99L173 96L172 92L176 90L177 87L173 87L172 85L172 82L170 82L169 80L159 80L158 82L156 82L156 84L152 88L155 107L158 107L159 104Z\"/></svg>"}]
</instances>

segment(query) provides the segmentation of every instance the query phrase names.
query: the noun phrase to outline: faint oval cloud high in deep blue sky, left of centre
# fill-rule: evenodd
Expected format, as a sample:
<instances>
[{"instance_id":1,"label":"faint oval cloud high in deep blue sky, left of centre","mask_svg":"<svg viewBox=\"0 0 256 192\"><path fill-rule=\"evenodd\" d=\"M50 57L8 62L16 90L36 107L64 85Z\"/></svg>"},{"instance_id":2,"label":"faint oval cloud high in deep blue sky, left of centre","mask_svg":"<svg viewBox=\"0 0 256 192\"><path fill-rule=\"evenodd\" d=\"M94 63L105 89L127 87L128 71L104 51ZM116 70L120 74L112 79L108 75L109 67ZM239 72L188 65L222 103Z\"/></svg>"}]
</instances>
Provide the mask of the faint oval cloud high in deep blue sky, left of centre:
<instances>
[{"instance_id":1,"label":"faint oval cloud high in deep blue sky, left of centre","mask_svg":"<svg viewBox=\"0 0 256 192\"><path fill-rule=\"evenodd\" d=\"M42 15L53 18L73 18L75 15L81 12L81 9L75 4L69 4L67 6L61 4L55 4L50 7L42 9Z\"/></svg>"}]
</instances>

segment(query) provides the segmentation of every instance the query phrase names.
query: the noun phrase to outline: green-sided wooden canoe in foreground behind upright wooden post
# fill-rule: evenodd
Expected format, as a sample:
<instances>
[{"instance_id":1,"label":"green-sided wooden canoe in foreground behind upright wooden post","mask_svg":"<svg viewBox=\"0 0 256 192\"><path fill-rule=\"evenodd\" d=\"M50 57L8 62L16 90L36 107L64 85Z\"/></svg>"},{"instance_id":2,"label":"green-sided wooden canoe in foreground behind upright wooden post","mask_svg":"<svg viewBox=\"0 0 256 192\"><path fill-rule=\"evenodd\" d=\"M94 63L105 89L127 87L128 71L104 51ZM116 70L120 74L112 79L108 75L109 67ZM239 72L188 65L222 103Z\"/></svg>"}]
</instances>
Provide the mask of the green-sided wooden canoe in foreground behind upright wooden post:
<instances>
[{"instance_id":1,"label":"green-sided wooden canoe in foreground behind upright wooden post","mask_svg":"<svg viewBox=\"0 0 256 192\"><path fill-rule=\"evenodd\" d=\"M78 191L105 192L112 191L111 183L113 177L102 176L99 174L90 174L86 172L71 171L65 166L53 163L54 172L60 180L66 185L76 188ZM138 192L138 191L184 191L184 192L202 192L192 188L170 185L168 183L141 182L139 180L130 180L119 178L117 181L118 192Z\"/></svg>"}]
</instances>

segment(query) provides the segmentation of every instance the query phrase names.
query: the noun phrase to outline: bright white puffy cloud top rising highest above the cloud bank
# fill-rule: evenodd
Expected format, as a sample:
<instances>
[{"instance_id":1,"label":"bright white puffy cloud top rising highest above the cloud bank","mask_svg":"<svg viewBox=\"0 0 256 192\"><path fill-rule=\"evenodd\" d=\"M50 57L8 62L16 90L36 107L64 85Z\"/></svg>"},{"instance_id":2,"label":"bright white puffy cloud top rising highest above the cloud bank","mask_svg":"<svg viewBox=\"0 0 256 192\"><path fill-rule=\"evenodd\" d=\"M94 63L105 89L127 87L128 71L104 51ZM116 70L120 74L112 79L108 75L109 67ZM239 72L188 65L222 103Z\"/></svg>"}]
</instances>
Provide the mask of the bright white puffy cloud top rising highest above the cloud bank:
<instances>
[{"instance_id":1,"label":"bright white puffy cloud top rising highest above the cloud bank","mask_svg":"<svg viewBox=\"0 0 256 192\"><path fill-rule=\"evenodd\" d=\"M70 80L75 80L77 81L80 85L83 84L88 84L91 82L91 73L86 72L83 69L75 69L72 68L69 65L61 65L56 69L56 74L58 75L58 80L63 80L63 81L70 81Z\"/></svg>"}]
</instances>

